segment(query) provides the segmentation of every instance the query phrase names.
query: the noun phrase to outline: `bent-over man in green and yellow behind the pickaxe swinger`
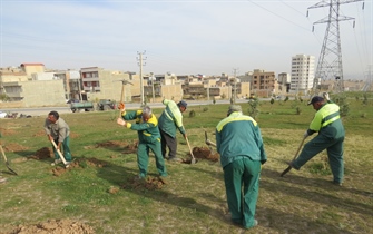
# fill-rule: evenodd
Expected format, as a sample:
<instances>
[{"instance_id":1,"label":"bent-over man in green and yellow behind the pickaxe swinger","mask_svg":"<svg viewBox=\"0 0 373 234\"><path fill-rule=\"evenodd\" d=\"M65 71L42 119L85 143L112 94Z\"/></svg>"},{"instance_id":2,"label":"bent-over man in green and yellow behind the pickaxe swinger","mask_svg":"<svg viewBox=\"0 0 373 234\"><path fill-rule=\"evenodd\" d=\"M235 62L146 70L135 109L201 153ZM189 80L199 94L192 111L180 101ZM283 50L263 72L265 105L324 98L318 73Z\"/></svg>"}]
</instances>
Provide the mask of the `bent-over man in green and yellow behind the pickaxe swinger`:
<instances>
[{"instance_id":1,"label":"bent-over man in green and yellow behind the pickaxe swinger","mask_svg":"<svg viewBox=\"0 0 373 234\"><path fill-rule=\"evenodd\" d=\"M168 160L179 162L176 157L177 139L176 129L186 138L186 131L183 126L183 113L187 108L187 103L180 100L176 104L174 100L164 99L163 104L166 106L165 110L159 117L159 130L161 136L161 155L166 158L166 148L168 147Z\"/></svg>"}]
</instances>

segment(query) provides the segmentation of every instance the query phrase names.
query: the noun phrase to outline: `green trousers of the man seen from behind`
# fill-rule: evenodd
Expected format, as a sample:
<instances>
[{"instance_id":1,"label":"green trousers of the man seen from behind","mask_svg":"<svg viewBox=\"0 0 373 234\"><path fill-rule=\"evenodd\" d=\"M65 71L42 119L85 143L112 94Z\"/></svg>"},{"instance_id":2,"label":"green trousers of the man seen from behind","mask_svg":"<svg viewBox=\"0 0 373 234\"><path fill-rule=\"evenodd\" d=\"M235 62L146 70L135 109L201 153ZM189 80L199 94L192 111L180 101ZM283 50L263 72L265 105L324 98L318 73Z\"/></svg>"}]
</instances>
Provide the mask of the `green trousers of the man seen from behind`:
<instances>
[{"instance_id":1,"label":"green trousers of the man seen from behind","mask_svg":"<svg viewBox=\"0 0 373 234\"><path fill-rule=\"evenodd\" d=\"M259 192L261 162L237 156L224 167L224 182L232 221L245 228L254 226Z\"/></svg>"}]
</instances>

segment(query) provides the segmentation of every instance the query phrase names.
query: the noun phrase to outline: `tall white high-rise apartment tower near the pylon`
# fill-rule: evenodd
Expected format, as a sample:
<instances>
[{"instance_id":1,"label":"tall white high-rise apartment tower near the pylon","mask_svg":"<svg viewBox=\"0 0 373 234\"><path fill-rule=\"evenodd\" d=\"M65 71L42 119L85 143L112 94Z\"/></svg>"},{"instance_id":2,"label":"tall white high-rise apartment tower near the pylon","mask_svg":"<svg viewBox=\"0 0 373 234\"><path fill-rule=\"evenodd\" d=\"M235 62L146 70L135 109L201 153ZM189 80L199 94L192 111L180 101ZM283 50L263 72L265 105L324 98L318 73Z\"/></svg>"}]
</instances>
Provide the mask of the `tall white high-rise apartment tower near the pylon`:
<instances>
[{"instance_id":1,"label":"tall white high-rise apartment tower near the pylon","mask_svg":"<svg viewBox=\"0 0 373 234\"><path fill-rule=\"evenodd\" d=\"M289 92L307 95L315 78L315 57L296 55L292 57L292 78Z\"/></svg>"}]
</instances>

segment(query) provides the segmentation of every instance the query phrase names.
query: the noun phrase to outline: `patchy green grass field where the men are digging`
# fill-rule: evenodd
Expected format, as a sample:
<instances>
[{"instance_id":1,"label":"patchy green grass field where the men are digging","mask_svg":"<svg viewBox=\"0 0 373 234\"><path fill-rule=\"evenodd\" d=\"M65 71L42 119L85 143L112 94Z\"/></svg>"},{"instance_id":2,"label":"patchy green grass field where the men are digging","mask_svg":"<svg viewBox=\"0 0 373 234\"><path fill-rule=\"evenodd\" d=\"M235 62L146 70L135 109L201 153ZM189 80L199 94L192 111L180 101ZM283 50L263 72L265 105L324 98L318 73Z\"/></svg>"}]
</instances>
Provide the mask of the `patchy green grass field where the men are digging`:
<instances>
[{"instance_id":1,"label":"patchy green grass field where the men are digging","mask_svg":"<svg viewBox=\"0 0 373 234\"><path fill-rule=\"evenodd\" d=\"M96 233L372 233L373 101L363 104L351 97L347 103L342 187L331 183L325 152L301 170L279 177L315 111L305 101L261 103L257 121L268 162L261 178L259 225L248 231L229 222L219 162L167 162L169 182L161 189L126 186L138 173L136 154L126 154L122 145L115 143L131 143L137 133L116 124L117 111L61 115L71 128L72 156L77 160L94 158L104 166L81 164L60 176L53 175L52 158L31 159L41 148L51 148L42 130L43 117L0 119L1 145L10 167L19 174L10 175L1 160L8 182L0 184L0 233L50 218L79 221ZM249 105L242 107L247 115ZM206 147L205 131L215 142L214 128L227 109L228 105L195 106L184 114L192 147ZM161 110L154 111L159 116ZM194 117L189 117L192 110ZM178 156L188 158L180 134L178 142ZM153 155L149 160L150 176L156 176ZM109 193L111 188L119 189Z\"/></svg>"}]
</instances>

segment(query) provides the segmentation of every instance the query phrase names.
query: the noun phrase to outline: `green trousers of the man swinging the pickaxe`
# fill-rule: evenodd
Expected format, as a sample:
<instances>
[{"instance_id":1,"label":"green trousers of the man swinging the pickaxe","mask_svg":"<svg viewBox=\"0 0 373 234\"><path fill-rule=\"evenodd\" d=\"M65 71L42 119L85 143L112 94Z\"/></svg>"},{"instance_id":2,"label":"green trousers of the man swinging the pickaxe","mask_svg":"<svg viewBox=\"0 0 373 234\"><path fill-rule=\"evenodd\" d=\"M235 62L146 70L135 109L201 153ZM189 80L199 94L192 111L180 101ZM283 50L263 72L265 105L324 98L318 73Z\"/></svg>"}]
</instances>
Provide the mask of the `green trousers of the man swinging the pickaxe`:
<instances>
[{"instance_id":1,"label":"green trousers of the man swinging the pickaxe","mask_svg":"<svg viewBox=\"0 0 373 234\"><path fill-rule=\"evenodd\" d=\"M167 176L165 160L160 152L160 142L155 143L139 143L137 148L137 164L140 170L140 177L145 177L148 174L149 164L149 149L155 155L157 170L160 176Z\"/></svg>"}]
</instances>

